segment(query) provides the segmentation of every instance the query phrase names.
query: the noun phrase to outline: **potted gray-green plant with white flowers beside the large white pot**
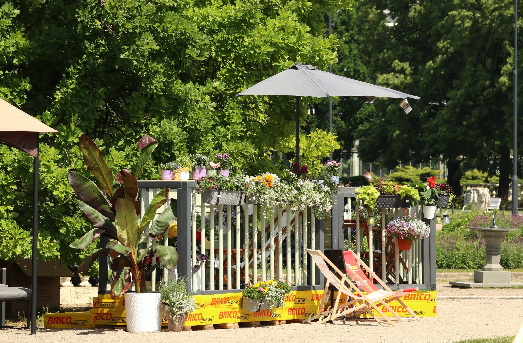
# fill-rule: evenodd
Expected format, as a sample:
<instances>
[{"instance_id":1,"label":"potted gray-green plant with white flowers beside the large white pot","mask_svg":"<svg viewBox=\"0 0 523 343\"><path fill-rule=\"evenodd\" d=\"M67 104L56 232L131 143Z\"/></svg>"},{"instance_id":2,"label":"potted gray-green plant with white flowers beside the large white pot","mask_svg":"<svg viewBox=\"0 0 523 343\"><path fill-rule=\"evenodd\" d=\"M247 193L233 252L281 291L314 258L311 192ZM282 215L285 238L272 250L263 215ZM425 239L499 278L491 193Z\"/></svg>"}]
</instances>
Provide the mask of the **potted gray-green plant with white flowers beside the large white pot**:
<instances>
[{"instance_id":1,"label":"potted gray-green plant with white flowers beside the large white pot","mask_svg":"<svg viewBox=\"0 0 523 343\"><path fill-rule=\"evenodd\" d=\"M167 279L160 284L162 312L169 321L167 331L181 331L185 318L196 309L196 300L187 292L187 278Z\"/></svg>"}]
</instances>

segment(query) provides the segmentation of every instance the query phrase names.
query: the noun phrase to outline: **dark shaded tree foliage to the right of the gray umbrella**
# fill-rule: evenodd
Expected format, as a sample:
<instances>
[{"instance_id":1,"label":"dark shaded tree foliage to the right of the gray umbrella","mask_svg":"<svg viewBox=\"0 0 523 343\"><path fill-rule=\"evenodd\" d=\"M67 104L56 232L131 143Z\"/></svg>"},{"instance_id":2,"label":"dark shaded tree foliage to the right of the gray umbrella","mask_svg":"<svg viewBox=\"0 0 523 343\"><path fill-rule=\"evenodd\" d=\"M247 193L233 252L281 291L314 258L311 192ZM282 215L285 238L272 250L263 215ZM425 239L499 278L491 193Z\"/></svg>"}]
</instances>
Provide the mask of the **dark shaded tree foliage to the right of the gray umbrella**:
<instances>
[{"instance_id":1,"label":"dark shaded tree foliage to the right of the gray umbrella","mask_svg":"<svg viewBox=\"0 0 523 343\"><path fill-rule=\"evenodd\" d=\"M476 168L499 174L500 193L506 196L513 6L508 0L369 0L357 2L350 15L335 14L341 18L334 20L334 32L352 38L340 40L342 75L421 97L410 101L408 115L397 99L347 106L336 100L335 113L348 115L353 123L344 125L357 128L353 139L359 139L363 160L394 168L402 161L440 156L454 190L461 189L462 170ZM350 58L342 56L346 50L354 52ZM334 127L343 129L336 120ZM351 137L342 137L349 150Z\"/></svg>"}]
</instances>

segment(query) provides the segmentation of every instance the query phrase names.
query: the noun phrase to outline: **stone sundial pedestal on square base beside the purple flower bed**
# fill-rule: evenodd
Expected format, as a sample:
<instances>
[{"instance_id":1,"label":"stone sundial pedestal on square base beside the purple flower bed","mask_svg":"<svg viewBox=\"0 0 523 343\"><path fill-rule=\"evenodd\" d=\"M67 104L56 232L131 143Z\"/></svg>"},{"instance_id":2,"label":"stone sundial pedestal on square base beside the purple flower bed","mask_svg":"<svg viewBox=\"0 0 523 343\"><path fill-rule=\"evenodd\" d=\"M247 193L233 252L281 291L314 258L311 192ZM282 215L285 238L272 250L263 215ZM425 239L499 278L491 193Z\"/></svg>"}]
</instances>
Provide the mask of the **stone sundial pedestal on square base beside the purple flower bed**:
<instances>
[{"instance_id":1,"label":"stone sundial pedestal on square base beside the purple flower bed","mask_svg":"<svg viewBox=\"0 0 523 343\"><path fill-rule=\"evenodd\" d=\"M512 287L523 285L522 282L510 282L510 272L503 271L499 264L501 258L501 245L508 231L516 228L506 227L471 227L480 231L485 241L485 265L483 270L474 271L474 282L451 281L450 284L460 287Z\"/></svg>"}]
</instances>

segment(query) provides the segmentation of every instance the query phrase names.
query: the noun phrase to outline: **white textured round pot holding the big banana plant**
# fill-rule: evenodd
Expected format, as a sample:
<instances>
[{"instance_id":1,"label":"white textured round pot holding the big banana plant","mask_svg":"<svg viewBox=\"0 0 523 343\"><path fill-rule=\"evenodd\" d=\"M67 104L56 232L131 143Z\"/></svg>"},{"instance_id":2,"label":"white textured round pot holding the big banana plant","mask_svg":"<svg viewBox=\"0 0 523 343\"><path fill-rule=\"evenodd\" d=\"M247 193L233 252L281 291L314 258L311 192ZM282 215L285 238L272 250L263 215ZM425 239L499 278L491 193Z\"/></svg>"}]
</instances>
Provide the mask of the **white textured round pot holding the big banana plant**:
<instances>
[{"instance_id":1,"label":"white textured round pot holding the big banana plant","mask_svg":"<svg viewBox=\"0 0 523 343\"><path fill-rule=\"evenodd\" d=\"M129 332L162 330L160 292L126 293L126 322Z\"/></svg>"}]
</instances>

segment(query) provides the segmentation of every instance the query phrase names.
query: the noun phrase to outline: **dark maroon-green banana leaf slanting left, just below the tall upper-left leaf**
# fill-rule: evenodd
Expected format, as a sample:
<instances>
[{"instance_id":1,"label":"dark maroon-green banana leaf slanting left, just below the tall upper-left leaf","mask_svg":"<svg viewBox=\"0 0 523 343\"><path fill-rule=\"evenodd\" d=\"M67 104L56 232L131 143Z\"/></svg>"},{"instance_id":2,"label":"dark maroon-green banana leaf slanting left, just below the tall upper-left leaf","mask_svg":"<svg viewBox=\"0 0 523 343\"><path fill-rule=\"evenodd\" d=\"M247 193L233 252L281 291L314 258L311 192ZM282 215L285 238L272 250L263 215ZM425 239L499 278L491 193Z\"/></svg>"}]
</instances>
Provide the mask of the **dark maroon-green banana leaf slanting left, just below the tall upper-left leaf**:
<instances>
[{"instance_id":1,"label":"dark maroon-green banana leaf slanting left, just below the tall upper-left leaf","mask_svg":"<svg viewBox=\"0 0 523 343\"><path fill-rule=\"evenodd\" d=\"M78 195L84 203L106 217L111 219L115 217L111 212L111 203L93 181L87 179L74 169L67 172L67 180L69 180L76 195Z\"/></svg>"}]
</instances>

